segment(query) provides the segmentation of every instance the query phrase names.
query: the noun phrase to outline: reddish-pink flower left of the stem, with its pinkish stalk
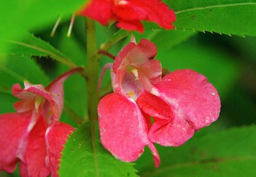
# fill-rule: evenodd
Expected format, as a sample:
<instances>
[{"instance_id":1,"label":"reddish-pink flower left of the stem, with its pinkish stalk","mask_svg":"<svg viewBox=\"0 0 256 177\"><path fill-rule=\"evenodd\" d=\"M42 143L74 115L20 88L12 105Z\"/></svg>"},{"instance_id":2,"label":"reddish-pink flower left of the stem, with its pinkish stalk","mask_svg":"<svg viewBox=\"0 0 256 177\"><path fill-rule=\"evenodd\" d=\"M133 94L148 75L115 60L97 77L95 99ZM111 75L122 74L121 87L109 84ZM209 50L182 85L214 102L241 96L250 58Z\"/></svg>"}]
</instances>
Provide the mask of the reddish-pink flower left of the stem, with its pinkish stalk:
<instances>
[{"instance_id":1,"label":"reddish-pink flower left of the stem, with its pinkish stalk","mask_svg":"<svg viewBox=\"0 0 256 177\"><path fill-rule=\"evenodd\" d=\"M24 81L12 86L22 100L14 104L17 113L0 115L0 170L12 173L20 162L22 177L58 177L61 151L74 128L60 123L63 82L79 68L67 71L46 88Z\"/></svg>"}]
</instances>

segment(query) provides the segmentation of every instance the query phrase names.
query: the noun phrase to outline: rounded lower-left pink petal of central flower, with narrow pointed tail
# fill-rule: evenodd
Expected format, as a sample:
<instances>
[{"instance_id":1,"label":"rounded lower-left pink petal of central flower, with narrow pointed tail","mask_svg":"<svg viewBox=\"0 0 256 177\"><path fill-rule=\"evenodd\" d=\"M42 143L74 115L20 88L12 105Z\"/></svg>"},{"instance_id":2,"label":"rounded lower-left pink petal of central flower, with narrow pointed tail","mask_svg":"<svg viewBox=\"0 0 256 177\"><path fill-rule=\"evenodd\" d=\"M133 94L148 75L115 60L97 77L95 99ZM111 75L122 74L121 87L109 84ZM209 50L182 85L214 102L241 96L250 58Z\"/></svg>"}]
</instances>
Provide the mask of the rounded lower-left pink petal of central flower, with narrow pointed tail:
<instances>
[{"instance_id":1,"label":"rounded lower-left pink petal of central flower, with narrow pointed tail","mask_svg":"<svg viewBox=\"0 0 256 177\"><path fill-rule=\"evenodd\" d=\"M98 113L102 144L116 158L127 162L137 160L148 145L155 165L159 166L158 153L148 139L147 123L133 99L109 94L100 100Z\"/></svg>"}]
</instances>

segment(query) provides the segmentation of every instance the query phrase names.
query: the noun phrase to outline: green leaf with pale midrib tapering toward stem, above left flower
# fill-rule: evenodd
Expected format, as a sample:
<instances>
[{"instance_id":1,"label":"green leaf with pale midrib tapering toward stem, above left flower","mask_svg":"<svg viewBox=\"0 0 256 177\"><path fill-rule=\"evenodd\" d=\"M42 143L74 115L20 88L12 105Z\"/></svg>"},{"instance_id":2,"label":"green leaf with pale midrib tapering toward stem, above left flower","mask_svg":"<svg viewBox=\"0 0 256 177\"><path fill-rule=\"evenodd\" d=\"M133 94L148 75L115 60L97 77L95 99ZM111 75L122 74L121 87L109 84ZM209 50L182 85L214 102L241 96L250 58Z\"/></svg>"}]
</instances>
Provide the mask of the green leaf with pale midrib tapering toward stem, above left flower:
<instances>
[{"instance_id":1,"label":"green leaf with pale midrib tapering toward stem, above left flower","mask_svg":"<svg viewBox=\"0 0 256 177\"><path fill-rule=\"evenodd\" d=\"M69 67L75 67L60 51L52 47L49 43L41 40L28 32L23 32L17 40L9 40L11 45L8 51L2 51L3 54L27 55L27 56L44 56L64 63Z\"/></svg>"}]
</instances>

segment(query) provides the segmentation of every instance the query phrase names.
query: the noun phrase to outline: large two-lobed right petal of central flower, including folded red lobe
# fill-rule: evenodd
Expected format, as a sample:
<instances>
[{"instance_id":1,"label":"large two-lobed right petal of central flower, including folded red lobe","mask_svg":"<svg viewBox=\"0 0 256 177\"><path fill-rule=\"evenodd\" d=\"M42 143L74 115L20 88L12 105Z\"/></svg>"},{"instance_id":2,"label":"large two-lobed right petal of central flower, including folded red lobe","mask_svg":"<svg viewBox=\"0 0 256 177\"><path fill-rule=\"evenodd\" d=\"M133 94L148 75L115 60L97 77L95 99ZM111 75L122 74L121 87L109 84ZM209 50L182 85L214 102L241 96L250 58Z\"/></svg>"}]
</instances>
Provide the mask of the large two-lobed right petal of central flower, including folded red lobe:
<instances>
[{"instance_id":1,"label":"large two-lobed right petal of central flower, including folded red lobe","mask_svg":"<svg viewBox=\"0 0 256 177\"><path fill-rule=\"evenodd\" d=\"M141 94L137 103L154 117L148 136L162 146L182 145L220 112L218 92L203 75L189 69L163 77L151 93Z\"/></svg>"}]
</instances>

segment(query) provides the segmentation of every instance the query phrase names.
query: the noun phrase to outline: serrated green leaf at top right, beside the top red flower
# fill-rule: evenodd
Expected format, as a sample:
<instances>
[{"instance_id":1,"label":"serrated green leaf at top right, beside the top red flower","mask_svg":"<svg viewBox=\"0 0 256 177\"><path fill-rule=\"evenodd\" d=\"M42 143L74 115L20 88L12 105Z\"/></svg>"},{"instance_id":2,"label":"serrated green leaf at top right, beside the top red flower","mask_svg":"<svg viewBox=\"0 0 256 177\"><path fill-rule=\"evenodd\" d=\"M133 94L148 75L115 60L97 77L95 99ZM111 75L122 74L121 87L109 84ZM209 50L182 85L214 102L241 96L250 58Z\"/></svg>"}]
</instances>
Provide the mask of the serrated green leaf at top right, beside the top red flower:
<instances>
[{"instance_id":1,"label":"serrated green leaf at top right, beside the top red flower","mask_svg":"<svg viewBox=\"0 0 256 177\"><path fill-rule=\"evenodd\" d=\"M163 1L176 13L177 29L256 36L256 0ZM145 23L145 28L156 25Z\"/></svg>"}]
</instances>

